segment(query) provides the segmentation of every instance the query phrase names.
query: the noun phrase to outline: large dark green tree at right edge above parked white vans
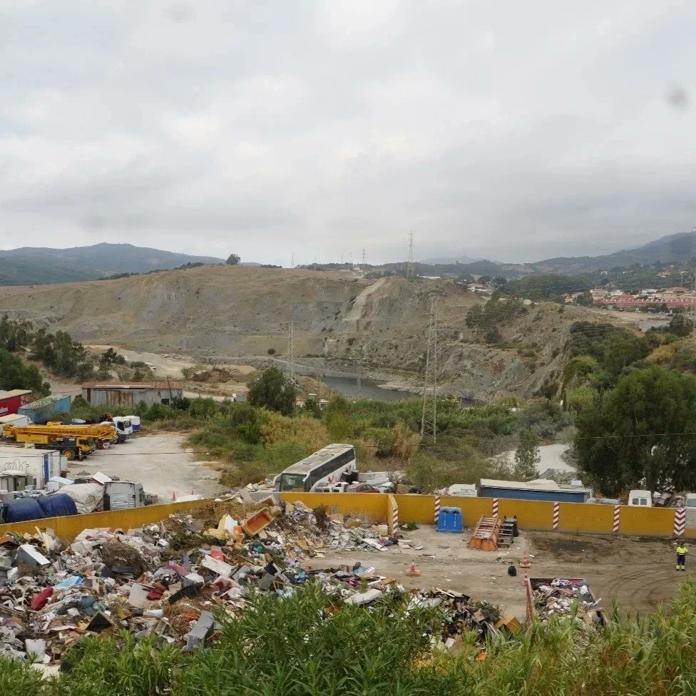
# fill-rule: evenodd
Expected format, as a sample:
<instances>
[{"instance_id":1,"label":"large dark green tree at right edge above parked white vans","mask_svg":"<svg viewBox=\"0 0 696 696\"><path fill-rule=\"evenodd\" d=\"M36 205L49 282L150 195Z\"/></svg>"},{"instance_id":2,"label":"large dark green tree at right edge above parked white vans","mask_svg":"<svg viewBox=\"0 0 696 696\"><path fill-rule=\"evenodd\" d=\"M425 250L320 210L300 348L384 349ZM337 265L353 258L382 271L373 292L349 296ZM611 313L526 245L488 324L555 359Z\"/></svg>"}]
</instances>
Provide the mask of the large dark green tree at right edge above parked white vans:
<instances>
[{"instance_id":1,"label":"large dark green tree at right edge above parked white vans","mask_svg":"<svg viewBox=\"0 0 696 696\"><path fill-rule=\"evenodd\" d=\"M580 469L606 495L696 487L696 379L631 369L595 409L578 414Z\"/></svg>"}]
</instances>

